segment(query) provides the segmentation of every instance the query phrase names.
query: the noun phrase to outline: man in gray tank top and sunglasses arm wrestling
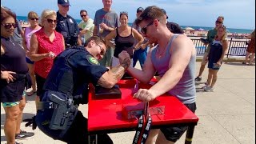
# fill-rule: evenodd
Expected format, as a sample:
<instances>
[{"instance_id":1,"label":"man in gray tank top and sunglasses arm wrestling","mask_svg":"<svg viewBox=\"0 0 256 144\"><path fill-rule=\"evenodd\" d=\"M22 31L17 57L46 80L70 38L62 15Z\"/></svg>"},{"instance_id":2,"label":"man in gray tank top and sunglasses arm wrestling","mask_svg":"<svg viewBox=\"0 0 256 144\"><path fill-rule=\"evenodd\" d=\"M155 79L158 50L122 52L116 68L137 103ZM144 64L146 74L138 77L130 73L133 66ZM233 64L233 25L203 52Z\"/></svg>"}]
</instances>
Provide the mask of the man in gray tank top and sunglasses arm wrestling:
<instances>
[{"instance_id":1,"label":"man in gray tank top and sunglasses arm wrestling","mask_svg":"<svg viewBox=\"0 0 256 144\"><path fill-rule=\"evenodd\" d=\"M174 34L166 26L165 14L157 6L149 6L136 19L142 34L150 43L158 43L150 49L142 70L129 67L128 73L140 82L148 83L158 72L160 80L149 90L140 89L135 98L149 102L168 93L177 97L191 111L195 111L195 60L194 43L185 34ZM146 143L166 144L176 142L186 131L186 126L165 127L151 130Z\"/></svg>"}]
</instances>

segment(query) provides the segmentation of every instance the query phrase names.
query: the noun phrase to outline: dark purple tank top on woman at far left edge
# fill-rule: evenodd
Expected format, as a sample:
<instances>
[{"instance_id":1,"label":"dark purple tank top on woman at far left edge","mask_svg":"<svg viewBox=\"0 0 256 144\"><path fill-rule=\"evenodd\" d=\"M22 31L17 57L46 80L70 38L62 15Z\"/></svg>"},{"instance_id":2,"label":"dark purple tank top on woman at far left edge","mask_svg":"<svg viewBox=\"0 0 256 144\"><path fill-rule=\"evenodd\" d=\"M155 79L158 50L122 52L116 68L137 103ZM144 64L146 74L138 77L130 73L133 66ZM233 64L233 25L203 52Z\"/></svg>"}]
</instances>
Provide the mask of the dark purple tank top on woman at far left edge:
<instances>
[{"instance_id":1,"label":"dark purple tank top on woman at far left edge","mask_svg":"<svg viewBox=\"0 0 256 144\"><path fill-rule=\"evenodd\" d=\"M10 38L1 37L2 46L4 46L5 54L1 55L1 70L14 71L17 74L26 74L28 67L26 66L26 53L17 42Z\"/></svg>"}]
</instances>

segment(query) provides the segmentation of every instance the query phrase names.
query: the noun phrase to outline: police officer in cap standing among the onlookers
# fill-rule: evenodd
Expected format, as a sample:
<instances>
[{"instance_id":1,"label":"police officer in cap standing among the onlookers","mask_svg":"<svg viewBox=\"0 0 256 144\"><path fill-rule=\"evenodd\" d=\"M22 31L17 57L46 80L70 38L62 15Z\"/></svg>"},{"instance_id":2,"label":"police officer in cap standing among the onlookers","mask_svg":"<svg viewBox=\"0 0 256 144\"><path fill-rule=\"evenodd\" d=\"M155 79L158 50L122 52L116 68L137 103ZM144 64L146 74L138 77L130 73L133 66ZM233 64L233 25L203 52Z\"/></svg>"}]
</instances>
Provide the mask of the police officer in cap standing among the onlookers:
<instances>
[{"instance_id":1,"label":"police officer in cap standing among the onlookers","mask_svg":"<svg viewBox=\"0 0 256 144\"><path fill-rule=\"evenodd\" d=\"M67 14L69 9L69 0L58 0L56 30L63 35L66 48L70 46L82 46L81 39L78 35L78 23Z\"/></svg>"}]
</instances>

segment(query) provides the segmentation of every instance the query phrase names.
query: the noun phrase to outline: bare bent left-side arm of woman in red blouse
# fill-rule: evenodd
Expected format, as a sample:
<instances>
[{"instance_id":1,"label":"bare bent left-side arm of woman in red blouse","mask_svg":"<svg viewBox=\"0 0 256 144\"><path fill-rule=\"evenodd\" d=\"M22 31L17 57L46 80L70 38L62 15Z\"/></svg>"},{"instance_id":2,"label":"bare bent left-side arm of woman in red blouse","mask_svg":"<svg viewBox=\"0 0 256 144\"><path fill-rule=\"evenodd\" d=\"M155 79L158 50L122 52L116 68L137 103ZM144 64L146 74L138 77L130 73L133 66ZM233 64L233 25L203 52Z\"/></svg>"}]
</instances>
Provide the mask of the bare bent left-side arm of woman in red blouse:
<instances>
[{"instance_id":1,"label":"bare bent left-side arm of woman in red blouse","mask_svg":"<svg viewBox=\"0 0 256 144\"><path fill-rule=\"evenodd\" d=\"M38 38L35 34L32 34L30 39L30 59L36 62L48 57L50 57L50 53L38 54Z\"/></svg>"}]
</instances>

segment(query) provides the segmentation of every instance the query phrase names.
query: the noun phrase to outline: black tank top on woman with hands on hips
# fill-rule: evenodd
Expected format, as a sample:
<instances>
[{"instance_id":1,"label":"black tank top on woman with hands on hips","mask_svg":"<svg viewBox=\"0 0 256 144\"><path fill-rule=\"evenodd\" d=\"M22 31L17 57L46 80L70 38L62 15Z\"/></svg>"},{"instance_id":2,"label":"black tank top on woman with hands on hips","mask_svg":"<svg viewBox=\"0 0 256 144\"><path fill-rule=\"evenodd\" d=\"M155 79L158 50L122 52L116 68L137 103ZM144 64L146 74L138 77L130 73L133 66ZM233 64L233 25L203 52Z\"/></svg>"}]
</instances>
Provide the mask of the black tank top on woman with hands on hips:
<instances>
[{"instance_id":1,"label":"black tank top on woman with hands on hips","mask_svg":"<svg viewBox=\"0 0 256 144\"><path fill-rule=\"evenodd\" d=\"M134 36L133 31L131 29L130 35L127 37L122 37L118 34L118 28L117 30L117 36L114 38L115 42L115 49L114 49L114 57L118 58L118 54L122 52L122 50L126 50L128 54L130 54L130 58L133 58L133 46L134 46Z\"/></svg>"}]
</instances>

